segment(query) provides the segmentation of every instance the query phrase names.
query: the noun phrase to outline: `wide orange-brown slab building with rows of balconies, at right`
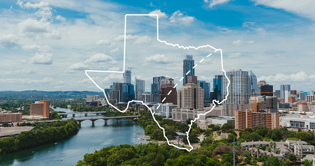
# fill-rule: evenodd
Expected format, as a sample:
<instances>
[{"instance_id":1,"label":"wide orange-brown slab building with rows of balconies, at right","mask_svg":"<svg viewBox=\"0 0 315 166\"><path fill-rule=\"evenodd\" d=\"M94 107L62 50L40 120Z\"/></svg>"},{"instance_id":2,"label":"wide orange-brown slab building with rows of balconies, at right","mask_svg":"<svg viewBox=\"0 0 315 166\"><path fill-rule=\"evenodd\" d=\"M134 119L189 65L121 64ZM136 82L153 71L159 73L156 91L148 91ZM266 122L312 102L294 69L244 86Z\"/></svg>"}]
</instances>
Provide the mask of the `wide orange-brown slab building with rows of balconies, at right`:
<instances>
[{"instance_id":1,"label":"wide orange-brown slab building with rows of balconies, at right","mask_svg":"<svg viewBox=\"0 0 315 166\"><path fill-rule=\"evenodd\" d=\"M265 126L268 129L279 128L279 113L252 112L251 110L235 111L235 129Z\"/></svg>"}]
</instances>

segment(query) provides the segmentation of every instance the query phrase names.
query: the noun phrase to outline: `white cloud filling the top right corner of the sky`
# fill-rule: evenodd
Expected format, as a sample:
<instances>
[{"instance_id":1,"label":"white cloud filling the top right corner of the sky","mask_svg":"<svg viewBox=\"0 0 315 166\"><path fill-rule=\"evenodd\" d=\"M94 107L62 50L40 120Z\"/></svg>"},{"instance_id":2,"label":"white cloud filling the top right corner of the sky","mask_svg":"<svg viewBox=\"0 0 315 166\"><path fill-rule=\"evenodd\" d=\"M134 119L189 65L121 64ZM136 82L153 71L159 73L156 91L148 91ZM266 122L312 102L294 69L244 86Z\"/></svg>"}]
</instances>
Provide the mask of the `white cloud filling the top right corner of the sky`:
<instances>
[{"instance_id":1,"label":"white cloud filling the top right corner of the sky","mask_svg":"<svg viewBox=\"0 0 315 166\"><path fill-rule=\"evenodd\" d=\"M306 18L315 20L315 1L313 0L251 0L255 5L264 5L275 9L284 9L285 11L296 13Z\"/></svg>"}]
</instances>

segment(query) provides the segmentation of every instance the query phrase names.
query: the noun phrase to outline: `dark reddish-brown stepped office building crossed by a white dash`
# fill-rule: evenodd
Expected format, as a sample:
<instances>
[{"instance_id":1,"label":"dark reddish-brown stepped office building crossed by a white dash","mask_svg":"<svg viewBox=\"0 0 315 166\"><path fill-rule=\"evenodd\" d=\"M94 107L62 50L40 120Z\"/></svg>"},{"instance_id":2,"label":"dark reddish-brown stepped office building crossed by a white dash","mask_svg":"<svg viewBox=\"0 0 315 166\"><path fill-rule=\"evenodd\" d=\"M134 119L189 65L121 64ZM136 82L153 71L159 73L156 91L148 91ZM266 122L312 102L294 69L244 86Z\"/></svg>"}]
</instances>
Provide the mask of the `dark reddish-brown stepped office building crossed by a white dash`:
<instances>
[{"instance_id":1,"label":"dark reddish-brown stepped office building crossed by a white dash","mask_svg":"<svg viewBox=\"0 0 315 166\"><path fill-rule=\"evenodd\" d=\"M173 103L177 105L176 87L174 88L174 85L161 85L158 103Z\"/></svg>"}]
</instances>

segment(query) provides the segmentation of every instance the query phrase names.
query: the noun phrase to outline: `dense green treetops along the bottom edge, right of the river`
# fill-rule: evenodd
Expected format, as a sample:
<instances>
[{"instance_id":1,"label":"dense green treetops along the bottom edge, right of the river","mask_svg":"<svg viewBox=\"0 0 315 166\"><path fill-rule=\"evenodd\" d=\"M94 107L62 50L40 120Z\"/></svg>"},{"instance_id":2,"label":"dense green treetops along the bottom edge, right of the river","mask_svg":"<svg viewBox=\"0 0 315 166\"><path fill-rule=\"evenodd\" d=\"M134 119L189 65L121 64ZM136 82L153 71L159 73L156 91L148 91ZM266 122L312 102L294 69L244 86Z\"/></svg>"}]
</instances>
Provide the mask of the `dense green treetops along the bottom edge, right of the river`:
<instances>
[{"instance_id":1,"label":"dense green treetops along the bottom edge, right of the river","mask_svg":"<svg viewBox=\"0 0 315 166\"><path fill-rule=\"evenodd\" d=\"M227 152L222 161L198 154L196 151L177 150L167 144L117 145L85 154L77 166L230 166L231 155Z\"/></svg>"}]
</instances>

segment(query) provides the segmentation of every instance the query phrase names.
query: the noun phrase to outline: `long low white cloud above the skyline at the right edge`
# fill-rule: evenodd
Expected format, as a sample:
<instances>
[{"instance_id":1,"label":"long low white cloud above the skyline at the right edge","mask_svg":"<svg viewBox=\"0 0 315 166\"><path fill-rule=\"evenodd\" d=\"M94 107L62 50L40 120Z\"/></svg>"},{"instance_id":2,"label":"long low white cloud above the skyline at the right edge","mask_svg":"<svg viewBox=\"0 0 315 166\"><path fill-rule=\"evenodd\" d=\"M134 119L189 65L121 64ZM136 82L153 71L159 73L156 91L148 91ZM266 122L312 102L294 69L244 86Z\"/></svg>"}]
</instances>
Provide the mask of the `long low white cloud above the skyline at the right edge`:
<instances>
[{"instance_id":1,"label":"long low white cloud above the skyline at the right edge","mask_svg":"<svg viewBox=\"0 0 315 166\"><path fill-rule=\"evenodd\" d=\"M269 75L269 76L261 76L260 78L257 78L257 80L265 80L267 82L314 82L315 81L315 75L308 75L305 72L301 71L296 74L291 75L284 75L284 74L277 74L276 76Z\"/></svg>"}]
</instances>

